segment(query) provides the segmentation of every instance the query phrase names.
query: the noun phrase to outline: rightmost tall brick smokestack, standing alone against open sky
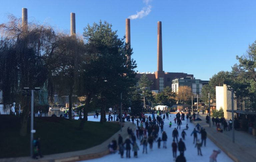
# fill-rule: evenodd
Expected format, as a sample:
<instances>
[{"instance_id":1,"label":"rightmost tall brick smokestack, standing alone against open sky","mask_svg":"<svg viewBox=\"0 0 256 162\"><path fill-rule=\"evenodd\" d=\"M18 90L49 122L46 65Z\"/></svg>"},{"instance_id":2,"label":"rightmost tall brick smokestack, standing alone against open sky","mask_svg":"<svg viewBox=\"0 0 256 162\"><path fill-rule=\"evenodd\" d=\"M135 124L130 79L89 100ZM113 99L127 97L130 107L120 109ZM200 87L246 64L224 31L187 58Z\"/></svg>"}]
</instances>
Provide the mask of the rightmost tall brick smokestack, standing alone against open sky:
<instances>
[{"instance_id":1,"label":"rightmost tall brick smokestack, standing alone against open sky","mask_svg":"<svg viewBox=\"0 0 256 162\"><path fill-rule=\"evenodd\" d=\"M157 22L157 71L163 71L162 22Z\"/></svg>"}]
</instances>

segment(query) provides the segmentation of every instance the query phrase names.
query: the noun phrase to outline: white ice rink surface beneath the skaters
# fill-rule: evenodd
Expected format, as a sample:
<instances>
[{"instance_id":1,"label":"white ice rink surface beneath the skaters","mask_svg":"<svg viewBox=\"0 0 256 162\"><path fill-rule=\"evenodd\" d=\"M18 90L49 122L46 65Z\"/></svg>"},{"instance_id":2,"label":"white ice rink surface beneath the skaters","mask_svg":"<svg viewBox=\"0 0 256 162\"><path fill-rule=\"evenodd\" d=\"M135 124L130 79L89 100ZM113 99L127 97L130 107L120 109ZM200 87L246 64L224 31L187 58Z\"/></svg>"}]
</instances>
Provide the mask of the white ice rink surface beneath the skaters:
<instances>
[{"instance_id":1,"label":"white ice rink surface beneath the skaters","mask_svg":"<svg viewBox=\"0 0 256 162\"><path fill-rule=\"evenodd\" d=\"M149 116L149 114L146 114ZM108 115L107 115L108 116ZM170 115L169 115L170 116ZM76 118L78 119L78 118ZM169 117L169 120L165 119L164 121L164 131L166 131L167 133L167 149L163 148L163 143L161 143L161 148L157 148L157 142L153 143L153 150L150 151L149 150L149 144L147 145L147 150L148 150L148 154L142 154L143 151L143 147L140 144L140 140L137 139L137 144L139 145L140 150L138 151L138 158L134 158L133 157L133 151L131 150L131 158L126 158L126 151L124 151L124 158L121 160L121 156L120 154L115 153L115 154L109 154L106 156L103 156L101 158L97 158L97 159L92 159L92 160L86 160L84 162L114 162L117 160L121 160L122 162L125 161L133 161L133 162L141 162L141 161L173 161L173 156L172 156L172 131L174 129L174 127L176 126L177 128L177 124L174 123L173 121L174 119L174 114L171 114L171 117ZM100 115L99 115L99 119L94 119L93 116L88 116L88 121L100 121ZM169 127L169 122L172 121L172 127ZM136 122L135 122L136 124ZM197 148L195 148L195 144L193 144L193 135L191 135L193 129L194 129L194 124L193 123L188 123L189 129L185 130L187 136L185 137L185 145L187 150L185 151L184 155L185 158L187 160L187 162L206 162L209 161L209 157L212 154L213 149L218 150L219 148L210 140L210 139L206 139L206 147L201 147L202 150L202 154L203 156L198 156L197 155ZM185 121L182 121L182 125L181 125L181 129L178 129L179 131L179 138L181 138L181 131L182 129L185 129L186 127L186 119ZM127 131L127 130L124 130ZM134 134L136 135L136 131L134 132ZM162 138L162 133L159 130L159 135L158 137ZM198 139L200 139L201 141L201 135L198 134ZM117 140L117 139L116 139ZM123 139L125 140L125 139ZM179 155L179 151L177 151L177 156ZM233 160L230 159L223 151L218 155L217 157L217 161L225 161L225 162L232 162Z\"/></svg>"}]
</instances>

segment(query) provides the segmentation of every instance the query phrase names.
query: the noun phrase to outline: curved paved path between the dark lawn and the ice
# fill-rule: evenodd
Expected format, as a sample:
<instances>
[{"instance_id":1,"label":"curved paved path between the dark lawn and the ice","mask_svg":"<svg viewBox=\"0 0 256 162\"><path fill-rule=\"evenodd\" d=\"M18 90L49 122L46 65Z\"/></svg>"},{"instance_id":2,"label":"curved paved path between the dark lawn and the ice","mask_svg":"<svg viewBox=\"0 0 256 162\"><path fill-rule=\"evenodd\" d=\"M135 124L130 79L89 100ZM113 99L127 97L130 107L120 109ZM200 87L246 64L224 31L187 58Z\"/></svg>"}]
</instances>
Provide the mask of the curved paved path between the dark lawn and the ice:
<instances>
[{"instance_id":1,"label":"curved paved path between the dark lawn and the ice","mask_svg":"<svg viewBox=\"0 0 256 162\"><path fill-rule=\"evenodd\" d=\"M119 123L119 122L118 122ZM66 152L60 154L52 154L52 155L45 155L43 158L39 158L38 160L32 159L30 157L18 157L18 158L5 158L0 159L0 162L71 162L71 161L80 161L80 160L87 160L93 158L99 158L104 155L109 154L108 144L113 140L118 140L118 134L121 134L123 139L127 138L127 128L130 127L135 131L136 125L132 124L131 122L125 122L122 128L122 132L120 130L116 132L113 136L107 139L100 145L94 146L92 148L88 148L86 150L80 151L73 151L73 152Z\"/></svg>"}]
</instances>

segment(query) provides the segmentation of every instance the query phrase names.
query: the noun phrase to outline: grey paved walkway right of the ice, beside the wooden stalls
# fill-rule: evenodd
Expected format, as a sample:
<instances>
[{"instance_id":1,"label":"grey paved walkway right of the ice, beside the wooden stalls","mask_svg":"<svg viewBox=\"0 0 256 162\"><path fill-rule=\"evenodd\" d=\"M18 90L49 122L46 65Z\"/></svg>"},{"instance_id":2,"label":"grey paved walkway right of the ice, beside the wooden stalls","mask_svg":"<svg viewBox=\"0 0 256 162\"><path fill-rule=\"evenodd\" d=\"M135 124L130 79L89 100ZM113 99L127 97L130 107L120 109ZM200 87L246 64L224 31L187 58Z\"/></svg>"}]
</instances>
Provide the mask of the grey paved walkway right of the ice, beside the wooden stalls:
<instances>
[{"instance_id":1,"label":"grey paved walkway right of the ice, beside the wooden stalls","mask_svg":"<svg viewBox=\"0 0 256 162\"><path fill-rule=\"evenodd\" d=\"M199 115L202 121L199 123L207 131L207 137L210 138L218 147L220 147L231 159L236 162L256 161L256 143L255 137L244 131L235 130L235 143L232 142L232 131L217 132L216 127L205 122L206 114Z\"/></svg>"}]
</instances>

